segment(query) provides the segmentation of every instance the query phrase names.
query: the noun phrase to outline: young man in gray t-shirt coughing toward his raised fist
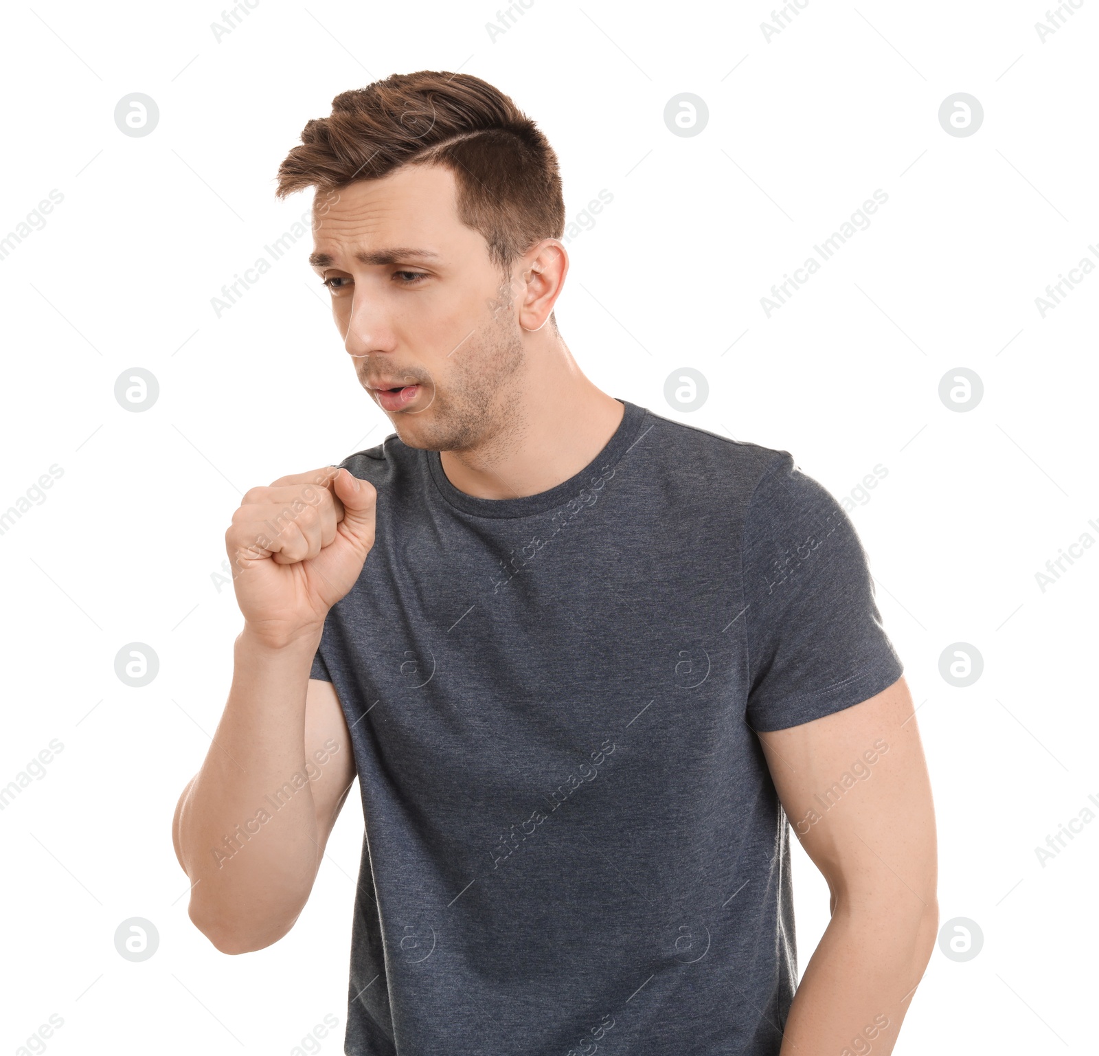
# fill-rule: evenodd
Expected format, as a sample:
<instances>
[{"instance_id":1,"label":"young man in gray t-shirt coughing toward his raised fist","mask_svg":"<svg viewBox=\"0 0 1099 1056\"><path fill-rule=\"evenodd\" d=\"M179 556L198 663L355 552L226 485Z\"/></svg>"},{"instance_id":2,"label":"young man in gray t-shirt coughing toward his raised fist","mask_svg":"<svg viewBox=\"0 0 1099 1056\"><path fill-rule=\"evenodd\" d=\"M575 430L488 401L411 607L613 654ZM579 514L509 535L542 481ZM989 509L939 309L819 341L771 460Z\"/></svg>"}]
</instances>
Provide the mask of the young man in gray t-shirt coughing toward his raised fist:
<instances>
[{"instance_id":1,"label":"young man in gray t-shirt coughing toward his raised fist","mask_svg":"<svg viewBox=\"0 0 1099 1056\"><path fill-rule=\"evenodd\" d=\"M174 824L191 920L285 935L357 774L348 1054L886 1056L934 819L846 514L787 452L580 371L556 157L491 86L344 92L279 169L307 187L396 432L233 515L244 630ZM789 824L832 892L800 986Z\"/></svg>"}]
</instances>

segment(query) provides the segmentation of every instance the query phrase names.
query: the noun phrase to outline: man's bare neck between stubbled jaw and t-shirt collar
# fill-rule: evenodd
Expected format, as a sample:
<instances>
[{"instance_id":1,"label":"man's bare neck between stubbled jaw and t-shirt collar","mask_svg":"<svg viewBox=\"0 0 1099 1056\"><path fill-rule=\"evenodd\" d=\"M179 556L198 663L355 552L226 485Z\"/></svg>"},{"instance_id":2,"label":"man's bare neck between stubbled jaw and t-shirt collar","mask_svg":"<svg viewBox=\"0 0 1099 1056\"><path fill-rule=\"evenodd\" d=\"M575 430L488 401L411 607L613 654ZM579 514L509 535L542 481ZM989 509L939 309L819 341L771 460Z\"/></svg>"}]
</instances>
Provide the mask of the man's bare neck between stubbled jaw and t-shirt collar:
<instances>
[{"instance_id":1,"label":"man's bare neck between stubbled jaw and t-shirt collar","mask_svg":"<svg viewBox=\"0 0 1099 1056\"><path fill-rule=\"evenodd\" d=\"M584 375L560 337L530 336L539 340L528 342L530 366L503 394L503 427L474 447L440 453L447 479L466 494L548 491L589 465L622 422L625 408Z\"/></svg>"}]
</instances>

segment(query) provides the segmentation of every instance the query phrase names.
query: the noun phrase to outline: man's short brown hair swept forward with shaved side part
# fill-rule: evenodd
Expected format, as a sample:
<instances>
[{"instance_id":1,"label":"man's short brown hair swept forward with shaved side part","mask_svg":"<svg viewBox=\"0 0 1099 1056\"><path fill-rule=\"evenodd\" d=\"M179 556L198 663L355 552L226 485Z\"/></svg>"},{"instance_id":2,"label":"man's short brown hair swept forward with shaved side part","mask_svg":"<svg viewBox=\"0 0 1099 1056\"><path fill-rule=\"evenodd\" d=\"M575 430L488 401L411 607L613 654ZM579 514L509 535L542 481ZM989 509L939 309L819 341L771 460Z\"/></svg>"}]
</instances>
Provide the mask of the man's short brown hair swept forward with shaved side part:
<instances>
[{"instance_id":1,"label":"man's short brown hair swept forward with shaved side part","mask_svg":"<svg viewBox=\"0 0 1099 1056\"><path fill-rule=\"evenodd\" d=\"M565 230L557 155L507 96L469 74L392 74L341 92L278 168L277 197L379 179L409 164L454 173L458 219L480 232L504 276L535 242ZM554 324L556 325L556 324Z\"/></svg>"}]
</instances>

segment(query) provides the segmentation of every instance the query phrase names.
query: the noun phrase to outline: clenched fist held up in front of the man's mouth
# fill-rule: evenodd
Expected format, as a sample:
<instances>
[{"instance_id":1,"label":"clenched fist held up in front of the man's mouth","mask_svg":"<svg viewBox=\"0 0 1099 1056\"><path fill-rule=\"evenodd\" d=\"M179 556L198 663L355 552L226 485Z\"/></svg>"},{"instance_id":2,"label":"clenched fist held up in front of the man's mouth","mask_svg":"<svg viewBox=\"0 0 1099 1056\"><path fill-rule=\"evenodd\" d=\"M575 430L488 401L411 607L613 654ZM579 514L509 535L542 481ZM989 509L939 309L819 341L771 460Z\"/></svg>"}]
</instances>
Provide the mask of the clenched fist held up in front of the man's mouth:
<instances>
[{"instance_id":1,"label":"clenched fist held up in front of the man's mouth","mask_svg":"<svg viewBox=\"0 0 1099 1056\"><path fill-rule=\"evenodd\" d=\"M225 549L236 602L260 641L284 646L320 632L374 546L377 497L369 481L334 466L245 493Z\"/></svg>"}]
</instances>

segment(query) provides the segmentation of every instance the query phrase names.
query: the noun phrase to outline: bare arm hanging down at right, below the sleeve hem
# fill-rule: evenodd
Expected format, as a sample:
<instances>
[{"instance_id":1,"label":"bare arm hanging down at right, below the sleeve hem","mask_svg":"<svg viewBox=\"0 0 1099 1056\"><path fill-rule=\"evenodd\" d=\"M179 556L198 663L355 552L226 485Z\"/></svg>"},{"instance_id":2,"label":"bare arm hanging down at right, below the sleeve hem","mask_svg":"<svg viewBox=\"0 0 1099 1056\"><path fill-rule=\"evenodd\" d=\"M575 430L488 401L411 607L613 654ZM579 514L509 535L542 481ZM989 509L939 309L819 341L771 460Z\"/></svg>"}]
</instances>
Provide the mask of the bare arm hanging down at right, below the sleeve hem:
<instances>
[{"instance_id":1,"label":"bare arm hanging down at right, below the sleeve hem","mask_svg":"<svg viewBox=\"0 0 1099 1056\"><path fill-rule=\"evenodd\" d=\"M901 678L759 740L790 824L832 892L781 1056L889 1056L939 927L931 783L908 686Z\"/></svg>"}]
</instances>

